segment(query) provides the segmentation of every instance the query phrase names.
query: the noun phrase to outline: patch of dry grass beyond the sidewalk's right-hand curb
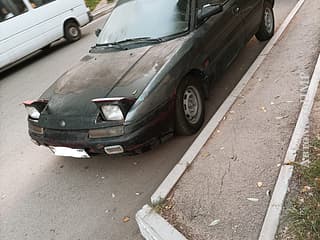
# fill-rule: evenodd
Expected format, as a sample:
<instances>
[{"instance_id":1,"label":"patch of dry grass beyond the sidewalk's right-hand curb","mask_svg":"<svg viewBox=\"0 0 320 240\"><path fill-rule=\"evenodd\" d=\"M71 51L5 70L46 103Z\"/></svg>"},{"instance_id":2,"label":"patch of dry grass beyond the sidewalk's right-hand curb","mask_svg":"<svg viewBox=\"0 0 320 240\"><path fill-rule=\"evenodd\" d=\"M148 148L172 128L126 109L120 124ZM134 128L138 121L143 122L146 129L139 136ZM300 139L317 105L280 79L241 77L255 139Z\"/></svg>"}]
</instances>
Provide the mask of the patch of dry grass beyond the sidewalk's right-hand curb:
<instances>
[{"instance_id":1,"label":"patch of dry grass beyond the sidewalk's right-hand curb","mask_svg":"<svg viewBox=\"0 0 320 240\"><path fill-rule=\"evenodd\" d=\"M288 230L294 239L320 240L320 140L311 146L309 166L295 164L299 192L290 203Z\"/></svg>"}]
</instances>

